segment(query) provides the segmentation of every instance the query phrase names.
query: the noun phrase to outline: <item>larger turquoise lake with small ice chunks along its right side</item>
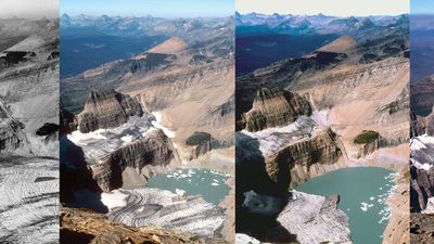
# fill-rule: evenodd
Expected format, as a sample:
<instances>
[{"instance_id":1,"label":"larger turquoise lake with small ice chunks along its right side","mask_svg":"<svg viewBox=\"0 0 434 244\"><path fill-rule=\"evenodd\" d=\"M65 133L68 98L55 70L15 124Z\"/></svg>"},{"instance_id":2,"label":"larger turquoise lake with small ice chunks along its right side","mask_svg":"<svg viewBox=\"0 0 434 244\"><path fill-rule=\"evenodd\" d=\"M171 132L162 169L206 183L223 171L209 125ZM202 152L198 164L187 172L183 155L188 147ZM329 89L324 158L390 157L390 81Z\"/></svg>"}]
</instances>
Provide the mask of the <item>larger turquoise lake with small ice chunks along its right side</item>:
<instances>
[{"instance_id":1,"label":"larger turquoise lake with small ice chunks along its right side","mask_svg":"<svg viewBox=\"0 0 434 244\"><path fill-rule=\"evenodd\" d=\"M396 188L395 174L376 167L345 168L312 178L296 190L323 196L339 194L339 208L349 218L354 244L381 244L391 215L385 201Z\"/></svg>"}]
</instances>

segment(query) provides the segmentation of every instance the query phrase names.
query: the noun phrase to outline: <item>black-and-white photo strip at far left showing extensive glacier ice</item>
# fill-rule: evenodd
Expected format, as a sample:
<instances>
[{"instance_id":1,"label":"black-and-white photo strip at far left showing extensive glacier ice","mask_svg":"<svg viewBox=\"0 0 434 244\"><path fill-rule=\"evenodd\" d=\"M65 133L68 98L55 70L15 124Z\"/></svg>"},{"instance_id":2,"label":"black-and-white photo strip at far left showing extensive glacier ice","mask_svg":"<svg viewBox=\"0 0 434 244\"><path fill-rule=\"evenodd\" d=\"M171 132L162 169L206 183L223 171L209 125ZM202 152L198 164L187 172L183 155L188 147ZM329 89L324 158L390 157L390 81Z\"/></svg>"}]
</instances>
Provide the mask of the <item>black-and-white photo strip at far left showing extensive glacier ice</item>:
<instances>
[{"instance_id":1,"label":"black-and-white photo strip at far left showing extensive glacier ice","mask_svg":"<svg viewBox=\"0 0 434 244\"><path fill-rule=\"evenodd\" d=\"M59 1L0 2L0 243L59 242Z\"/></svg>"}]
</instances>

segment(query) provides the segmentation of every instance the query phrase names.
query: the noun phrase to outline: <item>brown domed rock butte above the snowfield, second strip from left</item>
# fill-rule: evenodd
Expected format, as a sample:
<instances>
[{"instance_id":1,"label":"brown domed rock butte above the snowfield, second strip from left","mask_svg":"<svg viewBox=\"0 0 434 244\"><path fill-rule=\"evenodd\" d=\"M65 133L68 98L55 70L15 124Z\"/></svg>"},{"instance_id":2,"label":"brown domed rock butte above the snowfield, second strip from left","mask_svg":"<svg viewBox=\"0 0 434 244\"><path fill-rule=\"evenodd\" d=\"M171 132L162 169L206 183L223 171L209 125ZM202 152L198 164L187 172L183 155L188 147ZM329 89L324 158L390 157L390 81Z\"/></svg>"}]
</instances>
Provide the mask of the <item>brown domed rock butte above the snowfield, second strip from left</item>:
<instances>
[{"instance_id":1,"label":"brown domed rock butte above the snowfield, second strip from left","mask_svg":"<svg viewBox=\"0 0 434 244\"><path fill-rule=\"evenodd\" d=\"M125 124L129 116L142 116L138 101L115 90L91 91L85 110L78 114L78 129L90 132L100 128L112 128Z\"/></svg>"}]
</instances>

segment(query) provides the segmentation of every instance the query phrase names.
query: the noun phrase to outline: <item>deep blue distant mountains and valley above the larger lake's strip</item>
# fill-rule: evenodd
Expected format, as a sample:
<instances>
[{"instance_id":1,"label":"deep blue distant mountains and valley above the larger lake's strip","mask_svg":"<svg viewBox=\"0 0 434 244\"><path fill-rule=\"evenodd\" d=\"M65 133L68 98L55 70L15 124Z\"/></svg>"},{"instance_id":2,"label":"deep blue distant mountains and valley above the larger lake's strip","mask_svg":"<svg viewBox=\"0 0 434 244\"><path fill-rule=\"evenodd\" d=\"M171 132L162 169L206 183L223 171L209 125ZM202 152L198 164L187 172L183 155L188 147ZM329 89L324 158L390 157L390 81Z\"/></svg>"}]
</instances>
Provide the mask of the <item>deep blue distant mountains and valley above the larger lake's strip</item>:
<instances>
[{"instance_id":1,"label":"deep blue distant mountains and valley above the larger lake's strip","mask_svg":"<svg viewBox=\"0 0 434 244\"><path fill-rule=\"evenodd\" d=\"M407 14L336 17L237 12L235 24L237 76L279 60L303 56L341 36L349 36L362 46L369 40L409 33Z\"/></svg>"}]
</instances>

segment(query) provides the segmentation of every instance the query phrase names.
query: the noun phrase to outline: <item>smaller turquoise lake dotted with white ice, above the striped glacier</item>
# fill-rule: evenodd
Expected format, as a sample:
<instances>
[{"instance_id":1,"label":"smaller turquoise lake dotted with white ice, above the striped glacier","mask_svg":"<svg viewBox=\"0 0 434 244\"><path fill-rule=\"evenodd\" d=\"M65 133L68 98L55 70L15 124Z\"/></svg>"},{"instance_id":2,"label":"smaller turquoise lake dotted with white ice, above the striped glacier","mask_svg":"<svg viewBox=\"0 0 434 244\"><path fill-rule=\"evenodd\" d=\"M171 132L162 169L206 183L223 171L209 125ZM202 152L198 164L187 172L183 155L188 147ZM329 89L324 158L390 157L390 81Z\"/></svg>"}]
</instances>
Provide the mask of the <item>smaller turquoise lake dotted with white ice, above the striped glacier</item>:
<instances>
[{"instance_id":1,"label":"smaller turquoise lake dotted with white ice, above the striped glacier","mask_svg":"<svg viewBox=\"0 0 434 244\"><path fill-rule=\"evenodd\" d=\"M229 193L226 180L230 176L213 169L175 169L151 178L146 187L168 190L186 195L201 195L218 205Z\"/></svg>"}]
</instances>

